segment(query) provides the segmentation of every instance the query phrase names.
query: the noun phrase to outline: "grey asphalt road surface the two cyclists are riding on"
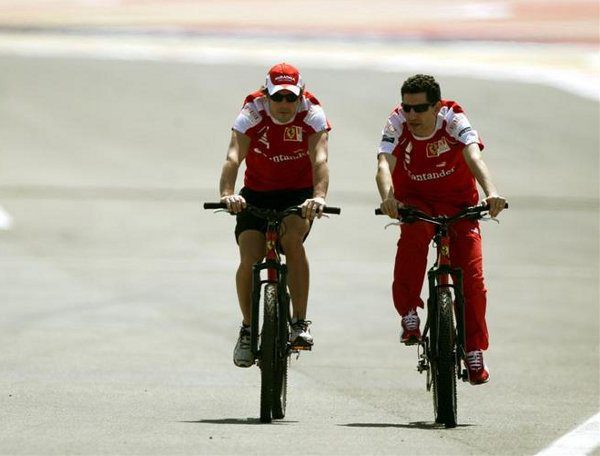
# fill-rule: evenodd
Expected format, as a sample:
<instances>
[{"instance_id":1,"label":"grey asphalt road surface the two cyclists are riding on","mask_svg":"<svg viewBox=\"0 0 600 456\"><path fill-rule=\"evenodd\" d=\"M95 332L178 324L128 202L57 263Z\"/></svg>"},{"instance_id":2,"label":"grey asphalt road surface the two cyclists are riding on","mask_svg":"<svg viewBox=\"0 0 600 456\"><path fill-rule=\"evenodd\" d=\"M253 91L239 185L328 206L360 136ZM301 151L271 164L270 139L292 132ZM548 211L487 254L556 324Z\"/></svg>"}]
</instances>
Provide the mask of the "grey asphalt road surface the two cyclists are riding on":
<instances>
[{"instance_id":1,"label":"grey asphalt road surface the two cyclists are riding on","mask_svg":"<svg viewBox=\"0 0 600 456\"><path fill-rule=\"evenodd\" d=\"M229 128L266 68L0 57L0 453L535 454L599 408L598 104L440 76L511 203L484 225L492 380L432 423L398 343L397 231L373 216L375 150L408 76L306 68L333 124L329 203L307 241L315 350L285 420L231 361Z\"/></svg>"}]
</instances>

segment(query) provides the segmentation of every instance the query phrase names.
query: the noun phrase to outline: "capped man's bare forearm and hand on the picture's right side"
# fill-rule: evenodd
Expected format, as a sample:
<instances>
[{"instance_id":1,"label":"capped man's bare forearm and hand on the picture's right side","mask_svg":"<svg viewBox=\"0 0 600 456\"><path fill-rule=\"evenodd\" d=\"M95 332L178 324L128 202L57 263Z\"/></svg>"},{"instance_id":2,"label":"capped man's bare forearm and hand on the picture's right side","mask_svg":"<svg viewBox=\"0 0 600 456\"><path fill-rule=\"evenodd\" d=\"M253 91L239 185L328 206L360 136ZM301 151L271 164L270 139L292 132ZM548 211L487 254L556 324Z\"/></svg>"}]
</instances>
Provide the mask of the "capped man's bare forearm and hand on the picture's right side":
<instances>
[{"instance_id":1,"label":"capped man's bare forearm and hand on the picture's right side","mask_svg":"<svg viewBox=\"0 0 600 456\"><path fill-rule=\"evenodd\" d=\"M302 205L302 215L310 220L321 217L329 188L329 165L327 164L329 133L326 130L313 133L308 138L308 154L312 163L313 197Z\"/></svg>"}]
</instances>

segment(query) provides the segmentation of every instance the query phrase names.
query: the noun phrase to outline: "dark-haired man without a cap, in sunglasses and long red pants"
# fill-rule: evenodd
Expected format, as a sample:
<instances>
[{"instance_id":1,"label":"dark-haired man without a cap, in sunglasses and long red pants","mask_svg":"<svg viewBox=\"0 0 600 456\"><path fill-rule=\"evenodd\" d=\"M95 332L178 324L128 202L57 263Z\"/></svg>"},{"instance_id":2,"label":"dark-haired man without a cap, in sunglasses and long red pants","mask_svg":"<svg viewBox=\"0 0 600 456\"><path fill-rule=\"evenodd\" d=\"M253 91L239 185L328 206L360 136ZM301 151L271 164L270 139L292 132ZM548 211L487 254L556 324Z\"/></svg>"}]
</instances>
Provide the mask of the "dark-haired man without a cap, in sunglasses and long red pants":
<instances>
[{"instance_id":1,"label":"dark-haired man without a cap, in sunglasses and long red pants","mask_svg":"<svg viewBox=\"0 0 600 456\"><path fill-rule=\"evenodd\" d=\"M498 194L482 159L483 142L462 108L442 100L432 76L417 74L401 88L402 102L389 116L378 150L377 187L381 210L392 218L398 208L415 207L432 215L451 215L479 201L477 183L485 193L489 213L497 216L506 200ZM392 295L402 317L400 340L413 345L421 340L417 308L433 227L424 222L401 225ZM463 272L466 349L469 381L489 380L483 362L488 348L485 321L486 289L483 280L479 224L462 220L451 230L454 264Z\"/></svg>"}]
</instances>

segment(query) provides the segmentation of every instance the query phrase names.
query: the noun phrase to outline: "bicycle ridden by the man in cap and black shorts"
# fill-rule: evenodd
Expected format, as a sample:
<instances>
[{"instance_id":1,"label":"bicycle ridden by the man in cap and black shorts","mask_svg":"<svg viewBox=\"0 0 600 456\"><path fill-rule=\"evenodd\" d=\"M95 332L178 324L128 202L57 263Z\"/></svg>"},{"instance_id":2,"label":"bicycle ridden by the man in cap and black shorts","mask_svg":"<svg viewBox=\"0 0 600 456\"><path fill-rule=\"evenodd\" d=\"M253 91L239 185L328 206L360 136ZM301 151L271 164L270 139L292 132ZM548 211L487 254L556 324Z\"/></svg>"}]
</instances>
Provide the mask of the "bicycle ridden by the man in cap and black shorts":
<instances>
[{"instance_id":1,"label":"bicycle ridden by the man in cap and black shorts","mask_svg":"<svg viewBox=\"0 0 600 456\"><path fill-rule=\"evenodd\" d=\"M204 203L204 209L227 209L225 203ZM270 423L272 419L285 417L287 405L287 372L289 358L299 355L300 350L310 350L307 345L292 345L289 341L292 316L290 295L287 289L287 266L282 261L279 244L279 227L282 220L291 214L302 214L298 206L283 211L263 209L250 204L244 209L267 221L265 233L266 252L263 261L254 265L252 271L252 322L251 350L261 372L260 421ZM325 214L340 214L338 207L323 209ZM261 272L266 270L266 279ZM261 290L263 295L263 324L259 340L259 314Z\"/></svg>"}]
</instances>

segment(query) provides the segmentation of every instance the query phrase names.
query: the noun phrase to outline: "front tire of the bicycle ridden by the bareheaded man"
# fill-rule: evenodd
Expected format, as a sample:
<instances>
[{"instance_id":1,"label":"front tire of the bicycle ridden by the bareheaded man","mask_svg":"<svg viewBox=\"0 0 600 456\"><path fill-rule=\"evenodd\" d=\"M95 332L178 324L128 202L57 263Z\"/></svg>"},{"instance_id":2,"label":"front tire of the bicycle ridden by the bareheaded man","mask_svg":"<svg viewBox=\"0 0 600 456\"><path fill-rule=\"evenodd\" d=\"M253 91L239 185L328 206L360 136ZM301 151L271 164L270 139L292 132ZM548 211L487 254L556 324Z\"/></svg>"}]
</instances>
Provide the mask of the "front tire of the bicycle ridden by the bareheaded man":
<instances>
[{"instance_id":1,"label":"front tire of the bicycle ridden by the bareheaded man","mask_svg":"<svg viewBox=\"0 0 600 456\"><path fill-rule=\"evenodd\" d=\"M437 291L437 356L432 361L433 408L435 422L443 423L447 428L456 427L456 331L452 311L452 294L448 288Z\"/></svg>"}]
</instances>

